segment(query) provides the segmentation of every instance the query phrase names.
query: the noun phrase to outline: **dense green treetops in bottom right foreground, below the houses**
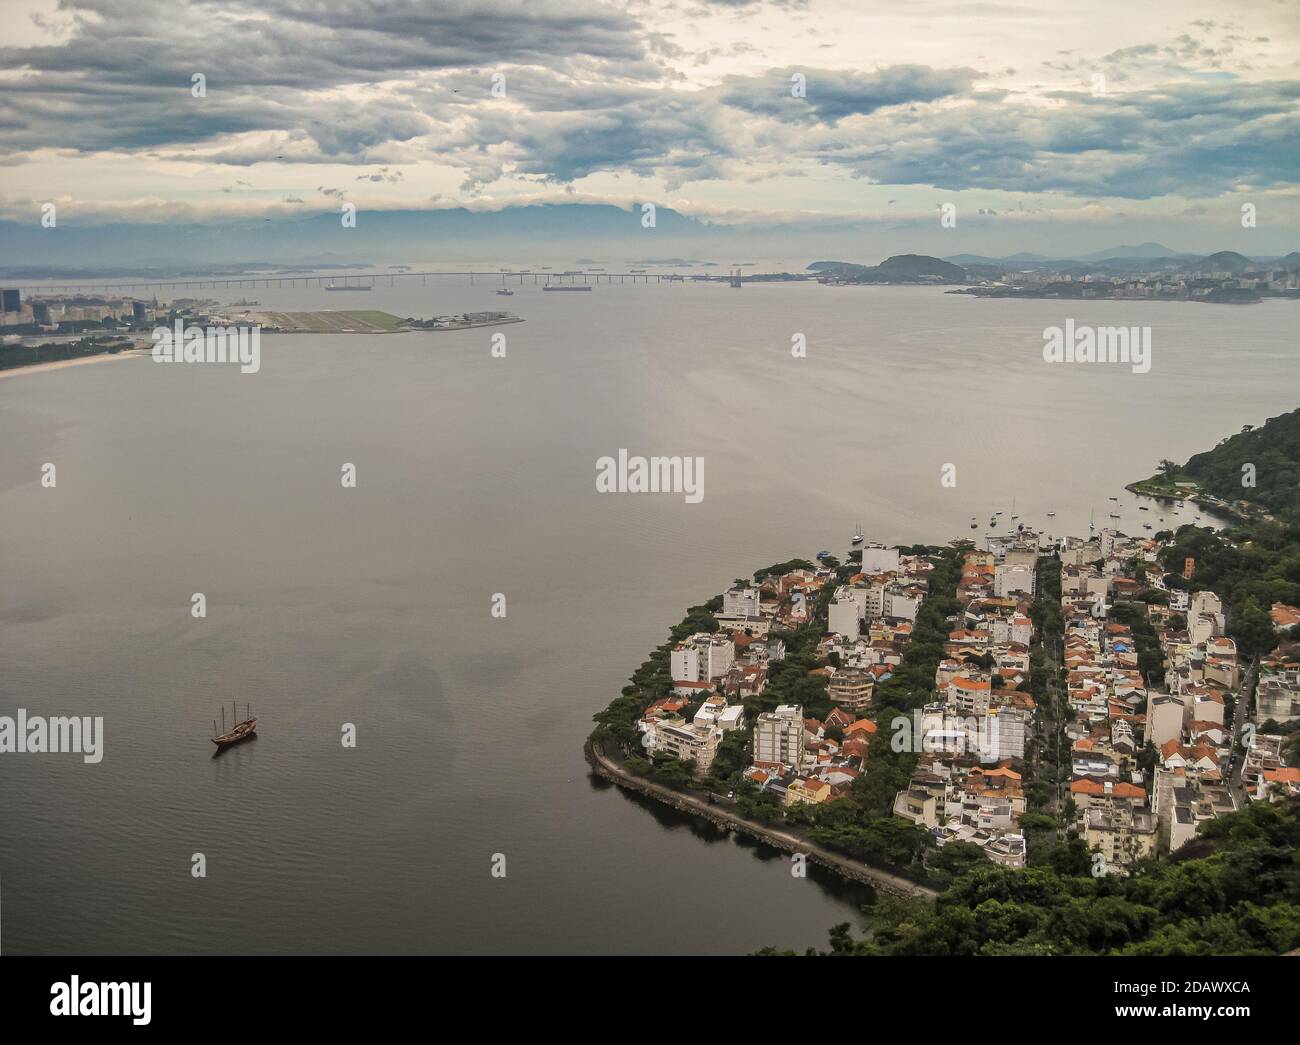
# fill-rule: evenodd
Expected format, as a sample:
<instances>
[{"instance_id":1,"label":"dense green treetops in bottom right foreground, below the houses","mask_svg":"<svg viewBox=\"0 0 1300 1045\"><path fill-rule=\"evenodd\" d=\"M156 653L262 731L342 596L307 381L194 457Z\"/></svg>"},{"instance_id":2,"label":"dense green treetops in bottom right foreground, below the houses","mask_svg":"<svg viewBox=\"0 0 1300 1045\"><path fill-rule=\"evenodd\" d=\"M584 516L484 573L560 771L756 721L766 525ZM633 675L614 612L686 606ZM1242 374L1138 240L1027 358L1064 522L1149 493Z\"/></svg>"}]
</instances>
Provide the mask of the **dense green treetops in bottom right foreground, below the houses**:
<instances>
[{"instance_id":1,"label":"dense green treetops in bottom right foreground, below the houses","mask_svg":"<svg viewBox=\"0 0 1300 1045\"><path fill-rule=\"evenodd\" d=\"M1202 828L1190 858L1092 877L1074 840L1052 867L984 864L933 903L883 901L833 954L1280 954L1300 946L1300 806L1254 803Z\"/></svg>"}]
</instances>

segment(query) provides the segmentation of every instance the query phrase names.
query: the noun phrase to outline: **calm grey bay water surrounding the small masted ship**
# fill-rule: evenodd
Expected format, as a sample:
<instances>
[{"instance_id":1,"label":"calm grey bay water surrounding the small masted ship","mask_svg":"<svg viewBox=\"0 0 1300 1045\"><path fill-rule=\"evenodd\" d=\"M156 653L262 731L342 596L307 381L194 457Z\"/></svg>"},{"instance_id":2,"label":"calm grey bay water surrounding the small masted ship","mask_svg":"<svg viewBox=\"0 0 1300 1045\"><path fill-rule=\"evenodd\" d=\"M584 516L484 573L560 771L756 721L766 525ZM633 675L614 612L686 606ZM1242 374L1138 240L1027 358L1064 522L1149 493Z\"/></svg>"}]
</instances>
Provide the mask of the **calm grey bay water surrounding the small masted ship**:
<instances>
[{"instance_id":1,"label":"calm grey bay water surrounding the small masted ship","mask_svg":"<svg viewBox=\"0 0 1300 1045\"><path fill-rule=\"evenodd\" d=\"M526 322L504 360L489 330L265 335L256 376L131 359L0 380L0 714L107 732L99 766L0 756L8 953L824 945L861 894L586 771L592 714L668 625L858 521L939 542L1014 498L1078 533L1117 495L1138 529L1158 512L1124 482L1296 406L1280 302L239 294ZM1067 316L1150 325L1150 373L1044 364ZM598 495L620 447L702 455L703 503ZM231 701L261 736L213 759Z\"/></svg>"}]
</instances>

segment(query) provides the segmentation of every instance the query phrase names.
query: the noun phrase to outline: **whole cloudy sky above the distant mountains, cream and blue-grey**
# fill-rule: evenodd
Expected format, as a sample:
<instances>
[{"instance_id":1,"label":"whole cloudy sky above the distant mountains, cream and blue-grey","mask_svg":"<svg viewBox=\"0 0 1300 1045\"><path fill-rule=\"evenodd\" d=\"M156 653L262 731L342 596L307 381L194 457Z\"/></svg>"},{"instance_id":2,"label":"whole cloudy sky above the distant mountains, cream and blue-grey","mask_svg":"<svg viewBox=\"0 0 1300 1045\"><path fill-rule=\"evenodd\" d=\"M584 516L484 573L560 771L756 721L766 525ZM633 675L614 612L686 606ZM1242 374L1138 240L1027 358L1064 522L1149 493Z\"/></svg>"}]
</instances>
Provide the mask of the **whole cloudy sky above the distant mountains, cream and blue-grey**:
<instances>
[{"instance_id":1,"label":"whole cloudy sky above the distant mountains, cream and blue-grey","mask_svg":"<svg viewBox=\"0 0 1300 1045\"><path fill-rule=\"evenodd\" d=\"M1243 248L1253 203L1256 252L1300 248L1294 0L0 0L0 22L14 221L651 200L906 229L950 201L987 252L1070 229L1195 250Z\"/></svg>"}]
</instances>

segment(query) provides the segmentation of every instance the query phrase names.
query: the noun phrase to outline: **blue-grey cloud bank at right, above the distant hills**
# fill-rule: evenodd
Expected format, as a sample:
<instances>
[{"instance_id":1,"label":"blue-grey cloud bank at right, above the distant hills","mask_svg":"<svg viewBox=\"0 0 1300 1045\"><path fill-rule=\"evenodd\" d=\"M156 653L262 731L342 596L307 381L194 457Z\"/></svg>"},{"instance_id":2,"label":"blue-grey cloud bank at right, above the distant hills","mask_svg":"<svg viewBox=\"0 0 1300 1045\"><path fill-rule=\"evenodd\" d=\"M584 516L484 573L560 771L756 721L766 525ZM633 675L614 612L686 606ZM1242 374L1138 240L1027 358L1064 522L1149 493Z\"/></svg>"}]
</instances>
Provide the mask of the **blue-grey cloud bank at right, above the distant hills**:
<instances>
[{"instance_id":1,"label":"blue-grey cloud bank at right, above the distant hills","mask_svg":"<svg viewBox=\"0 0 1300 1045\"><path fill-rule=\"evenodd\" d=\"M978 97L978 96L976 96ZM883 183L1149 199L1287 186L1300 164L1300 84L1180 84L1058 105L974 101L881 113L826 161Z\"/></svg>"}]
</instances>

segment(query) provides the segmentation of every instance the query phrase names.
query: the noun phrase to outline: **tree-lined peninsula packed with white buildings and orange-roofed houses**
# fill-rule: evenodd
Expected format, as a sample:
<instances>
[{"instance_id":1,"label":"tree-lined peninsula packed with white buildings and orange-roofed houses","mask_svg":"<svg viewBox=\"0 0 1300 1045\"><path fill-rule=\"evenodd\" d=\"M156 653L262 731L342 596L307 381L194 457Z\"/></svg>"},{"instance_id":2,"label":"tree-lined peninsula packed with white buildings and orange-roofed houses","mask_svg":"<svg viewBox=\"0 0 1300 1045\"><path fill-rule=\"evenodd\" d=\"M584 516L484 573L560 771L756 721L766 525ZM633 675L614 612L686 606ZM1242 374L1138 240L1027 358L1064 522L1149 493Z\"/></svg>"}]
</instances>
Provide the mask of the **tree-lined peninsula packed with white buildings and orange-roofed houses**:
<instances>
[{"instance_id":1,"label":"tree-lined peninsula packed with white buildings and orange-roofed houses","mask_svg":"<svg viewBox=\"0 0 1300 1045\"><path fill-rule=\"evenodd\" d=\"M1297 424L1245 446L1296 467ZM1187 469L1213 490L1240 450ZM896 897L866 938L837 927L836 951L1300 946L1300 906L1231 871L1300 845L1300 513L1284 476L1244 499L1271 511L1227 532L1018 526L759 569L686 611L595 715L588 760L792 854L792 873L812 862ZM1214 910L1104 918L1193 866L1223 883ZM993 896L1026 919L980 922ZM1253 927L1261 909L1286 928Z\"/></svg>"}]
</instances>

